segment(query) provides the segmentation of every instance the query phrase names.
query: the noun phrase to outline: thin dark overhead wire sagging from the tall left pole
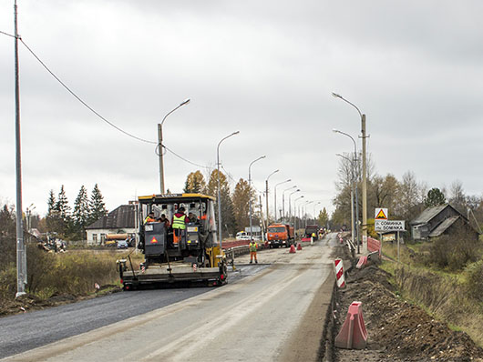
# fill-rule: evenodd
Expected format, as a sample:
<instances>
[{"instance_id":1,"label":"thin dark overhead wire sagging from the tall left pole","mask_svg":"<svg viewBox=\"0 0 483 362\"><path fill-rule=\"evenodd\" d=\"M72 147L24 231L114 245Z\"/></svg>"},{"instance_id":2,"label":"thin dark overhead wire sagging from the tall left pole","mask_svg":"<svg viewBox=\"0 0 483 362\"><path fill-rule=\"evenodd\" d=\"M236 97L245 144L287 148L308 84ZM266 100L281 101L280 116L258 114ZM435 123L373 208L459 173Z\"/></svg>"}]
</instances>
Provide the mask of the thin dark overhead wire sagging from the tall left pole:
<instances>
[{"instance_id":1,"label":"thin dark overhead wire sagging from the tall left pole","mask_svg":"<svg viewBox=\"0 0 483 362\"><path fill-rule=\"evenodd\" d=\"M11 35L11 34L5 33L5 32L3 32L1 30L0 30L0 34L7 35L7 36L11 36L11 37L14 37L15 38L15 35ZM72 89L70 89L57 75L55 75L54 72L52 70L50 70L50 68L40 59L40 57L38 55L36 55L36 53L30 48L30 46L26 45L26 42L20 36L18 37L18 40L20 40L20 42L26 47L26 49L30 52L30 54L33 55L36 58L36 60L40 63L40 65L42 65L46 69L46 71L50 75L52 75L57 80L57 82L60 85L62 85L67 90L68 93L70 93L72 96L74 96L77 99L77 101L79 101L83 106L87 107L87 109L89 111L91 111L94 115L98 116L99 119L101 119L102 121L106 122L109 126L114 127L119 132L123 133L124 135L129 136L131 138L134 138L134 139L136 139L138 141L141 141L141 142L149 143L151 145L157 145L156 146L156 149L155 149L155 153L159 156L159 142L150 141L148 139L144 139L144 138L141 138L139 136L132 135L132 134L128 133L127 131L125 131L124 129L120 128L119 126L116 126L112 122L108 121L108 119L106 119L106 117L100 115L94 108L92 108L91 106L89 106L86 101L84 101L80 96L77 96L77 94ZM187 162L190 165L198 166L198 167L203 167L203 168L210 168L208 166L202 166L202 165L196 164L196 163L190 161L189 159L187 159L187 158L185 158L183 156L178 155L176 152L172 151L167 146L162 145L162 147L165 148L172 155L180 158L182 161Z\"/></svg>"}]
</instances>

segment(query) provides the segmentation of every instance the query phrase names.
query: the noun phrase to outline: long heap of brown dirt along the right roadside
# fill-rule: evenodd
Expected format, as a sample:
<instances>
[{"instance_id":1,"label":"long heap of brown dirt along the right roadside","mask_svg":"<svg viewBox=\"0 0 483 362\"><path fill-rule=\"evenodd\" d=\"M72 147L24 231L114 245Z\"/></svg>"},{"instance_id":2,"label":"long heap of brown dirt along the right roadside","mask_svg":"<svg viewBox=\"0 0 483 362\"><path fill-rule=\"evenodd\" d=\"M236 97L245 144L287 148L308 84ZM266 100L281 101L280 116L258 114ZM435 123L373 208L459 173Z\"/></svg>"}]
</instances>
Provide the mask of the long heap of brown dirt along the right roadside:
<instances>
[{"instance_id":1,"label":"long heap of brown dirt along the right roadside","mask_svg":"<svg viewBox=\"0 0 483 362\"><path fill-rule=\"evenodd\" d=\"M335 350L336 361L483 361L483 349L424 310L396 295L389 275L376 266L353 269L337 293L335 333L349 305L362 302L368 343L365 350Z\"/></svg>"}]
</instances>

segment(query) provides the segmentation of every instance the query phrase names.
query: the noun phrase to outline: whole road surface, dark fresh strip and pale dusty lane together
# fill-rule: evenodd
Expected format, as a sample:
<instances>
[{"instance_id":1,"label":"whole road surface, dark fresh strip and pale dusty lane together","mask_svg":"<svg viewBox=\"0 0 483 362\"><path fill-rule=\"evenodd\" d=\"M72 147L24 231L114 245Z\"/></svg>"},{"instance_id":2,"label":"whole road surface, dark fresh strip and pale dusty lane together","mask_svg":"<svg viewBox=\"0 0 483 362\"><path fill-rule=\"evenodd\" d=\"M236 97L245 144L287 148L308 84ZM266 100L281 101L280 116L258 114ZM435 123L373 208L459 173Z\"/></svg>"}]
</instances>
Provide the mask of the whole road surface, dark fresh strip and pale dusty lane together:
<instances>
[{"instance_id":1,"label":"whole road surface, dark fresh strip and pale dusty lane together","mask_svg":"<svg viewBox=\"0 0 483 362\"><path fill-rule=\"evenodd\" d=\"M0 356L60 361L208 360L206 356L217 350L219 359L227 359L228 351L238 351L235 359L228 360L270 360L282 353L283 341L329 274L326 246L330 244L332 237L296 256L287 249L267 250L260 253L258 265L245 265L248 258L241 256L225 287L123 292L0 318ZM249 311L259 308L274 310L257 314L265 316L258 320ZM271 333L272 328L277 332ZM255 352L240 343L246 339L256 345L263 335L272 335L272 347ZM183 347L180 354L183 336L190 336L191 347ZM221 336L228 349L218 348ZM41 348L30 351L36 347ZM30 352L17 355L25 351Z\"/></svg>"}]
</instances>

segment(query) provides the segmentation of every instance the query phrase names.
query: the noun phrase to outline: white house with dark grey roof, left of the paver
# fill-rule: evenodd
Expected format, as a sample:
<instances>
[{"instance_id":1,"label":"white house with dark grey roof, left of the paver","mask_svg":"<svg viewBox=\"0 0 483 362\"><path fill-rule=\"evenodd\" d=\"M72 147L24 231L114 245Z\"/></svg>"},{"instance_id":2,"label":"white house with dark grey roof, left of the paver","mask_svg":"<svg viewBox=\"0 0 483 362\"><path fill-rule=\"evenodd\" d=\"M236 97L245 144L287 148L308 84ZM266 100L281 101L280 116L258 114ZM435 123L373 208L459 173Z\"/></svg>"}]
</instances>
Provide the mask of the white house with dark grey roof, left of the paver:
<instances>
[{"instance_id":1,"label":"white house with dark grey roof, left of the paver","mask_svg":"<svg viewBox=\"0 0 483 362\"><path fill-rule=\"evenodd\" d=\"M108 234L136 234L136 206L121 205L86 227L87 244L102 245Z\"/></svg>"}]
</instances>

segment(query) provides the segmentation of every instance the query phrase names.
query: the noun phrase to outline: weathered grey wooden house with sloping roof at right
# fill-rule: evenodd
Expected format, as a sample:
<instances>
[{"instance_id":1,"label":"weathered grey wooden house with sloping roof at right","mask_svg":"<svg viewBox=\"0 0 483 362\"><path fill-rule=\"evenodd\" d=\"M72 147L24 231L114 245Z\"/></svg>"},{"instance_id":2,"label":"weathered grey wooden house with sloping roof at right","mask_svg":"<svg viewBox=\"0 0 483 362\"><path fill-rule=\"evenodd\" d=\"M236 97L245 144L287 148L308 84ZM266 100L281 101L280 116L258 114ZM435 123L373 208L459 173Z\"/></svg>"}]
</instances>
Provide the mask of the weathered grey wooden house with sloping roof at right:
<instances>
[{"instance_id":1,"label":"weathered grey wooden house with sloping roof at right","mask_svg":"<svg viewBox=\"0 0 483 362\"><path fill-rule=\"evenodd\" d=\"M474 234L478 238L478 233L469 225L468 218L449 204L426 208L409 225L411 226L411 235L416 241L450 235L461 229Z\"/></svg>"}]
</instances>

